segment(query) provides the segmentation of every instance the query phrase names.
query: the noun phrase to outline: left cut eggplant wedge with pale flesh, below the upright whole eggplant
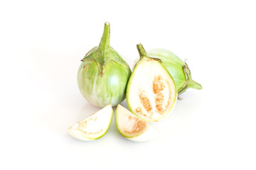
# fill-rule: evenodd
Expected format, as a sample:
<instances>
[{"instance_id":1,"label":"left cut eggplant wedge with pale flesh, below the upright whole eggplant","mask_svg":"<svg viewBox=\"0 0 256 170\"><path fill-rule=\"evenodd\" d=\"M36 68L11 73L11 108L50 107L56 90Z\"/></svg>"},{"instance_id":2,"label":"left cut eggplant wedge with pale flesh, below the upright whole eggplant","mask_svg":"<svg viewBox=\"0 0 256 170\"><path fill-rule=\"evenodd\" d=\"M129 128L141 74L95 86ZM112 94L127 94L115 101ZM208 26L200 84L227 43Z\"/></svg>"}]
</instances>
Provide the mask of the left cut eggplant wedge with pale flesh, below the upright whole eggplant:
<instances>
[{"instance_id":1,"label":"left cut eggplant wedge with pale flesh, below the upright whole eggplant","mask_svg":"<svg viewBox=\"0 0 256 170\"><path fill-rule=\"evenodd\" d=\"M107 133L112 115L112 106L109 104L68 128L68 133L77 140L97 140Z\"/></svg>"}]
</instances>

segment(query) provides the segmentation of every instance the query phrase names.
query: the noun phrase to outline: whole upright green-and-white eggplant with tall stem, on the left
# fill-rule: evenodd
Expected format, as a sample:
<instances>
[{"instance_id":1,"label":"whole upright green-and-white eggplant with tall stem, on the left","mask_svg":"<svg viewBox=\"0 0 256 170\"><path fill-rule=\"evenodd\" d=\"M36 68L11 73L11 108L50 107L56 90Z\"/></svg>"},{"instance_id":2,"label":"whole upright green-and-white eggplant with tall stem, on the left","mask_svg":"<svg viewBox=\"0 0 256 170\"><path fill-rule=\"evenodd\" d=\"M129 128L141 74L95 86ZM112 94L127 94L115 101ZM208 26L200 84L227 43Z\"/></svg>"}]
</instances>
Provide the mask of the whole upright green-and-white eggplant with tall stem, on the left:
<instances>
[{"instance_id":1,"label":"whole upright green-and-white eggplant with tall stem, on the left","mask_svg":"<svg viewBox=\"0 0 256 170\"><path fill-rule=\"evenodd\" d=\"M105 23L100 45L87 52L78 69L82 96L100 108L117 106L124 101L131 74L129 65L110 47L110 23Z\"/></svg>"}]
</instances>

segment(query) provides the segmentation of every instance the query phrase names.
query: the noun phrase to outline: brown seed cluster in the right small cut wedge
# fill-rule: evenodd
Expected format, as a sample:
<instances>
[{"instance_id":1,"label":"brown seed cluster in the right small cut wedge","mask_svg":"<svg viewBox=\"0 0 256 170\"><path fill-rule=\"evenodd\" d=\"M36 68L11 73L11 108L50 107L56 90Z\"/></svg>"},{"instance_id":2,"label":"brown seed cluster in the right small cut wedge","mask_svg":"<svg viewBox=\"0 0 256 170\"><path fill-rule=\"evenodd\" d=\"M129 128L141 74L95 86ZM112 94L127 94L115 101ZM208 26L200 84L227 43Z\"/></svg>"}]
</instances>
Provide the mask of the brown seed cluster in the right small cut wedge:
<instances>
[{"instance_id":1,"label":"brown seed cluster in the right small cut wedge","mask_svg":"<svg viewBox=\"0 0 256 170\"><path fill-rule=\"evenodd\" d=\"M134 135L137 134L139 132L142 132L142 130L144 130L146 128L146 122L144 122L143 120L140 120L139 118L135 118L132 115L129 115L129 120L134 119L135 123L132 126L132 129L125 129L124 132L129 134L129 135Z\"/></svg>"}]
</instances>

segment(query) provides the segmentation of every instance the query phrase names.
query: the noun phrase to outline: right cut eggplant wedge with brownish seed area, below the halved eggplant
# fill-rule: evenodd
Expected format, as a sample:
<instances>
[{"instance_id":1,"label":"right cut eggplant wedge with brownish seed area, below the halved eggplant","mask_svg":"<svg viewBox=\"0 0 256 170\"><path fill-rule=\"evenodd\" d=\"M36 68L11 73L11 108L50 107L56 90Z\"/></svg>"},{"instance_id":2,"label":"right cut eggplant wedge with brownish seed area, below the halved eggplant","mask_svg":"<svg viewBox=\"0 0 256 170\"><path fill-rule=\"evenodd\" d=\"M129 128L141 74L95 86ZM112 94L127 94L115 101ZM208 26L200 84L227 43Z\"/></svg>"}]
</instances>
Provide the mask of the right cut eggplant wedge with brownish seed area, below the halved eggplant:
<instances>
[{"instance_id":1,"label":"right cut eggplant wedge with brownish seed area, below the halved eggplant","mask_svg":"<svg viewBox=\"0 0 256 170\"><path fill-rule=\"evenodd\" d=\"M115 111L115 123L122 136L135 142L152 140L159 133L152 125L146 123L146 121L121 105L118 105Z\"/></svg>"}]
</instances>

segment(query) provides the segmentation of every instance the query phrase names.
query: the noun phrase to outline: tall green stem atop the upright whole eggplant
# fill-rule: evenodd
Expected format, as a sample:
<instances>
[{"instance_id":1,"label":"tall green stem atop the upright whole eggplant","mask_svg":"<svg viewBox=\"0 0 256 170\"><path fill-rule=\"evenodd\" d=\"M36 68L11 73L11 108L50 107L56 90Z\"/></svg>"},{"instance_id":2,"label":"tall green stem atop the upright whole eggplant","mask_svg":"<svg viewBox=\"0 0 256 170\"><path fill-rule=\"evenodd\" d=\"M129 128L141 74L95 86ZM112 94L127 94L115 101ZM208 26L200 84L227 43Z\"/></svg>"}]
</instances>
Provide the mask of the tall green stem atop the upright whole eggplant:
<instances>
[{"instance_id":1,"label":"tall green stem atop the upright whole eggplant","mask_svg":"<svg viewBox=\"0 0 256 170\"><path fill-rule=\"evenodd\" d=\"M106 22L102 39L100 40L99 49L102 52L102 57L104 57L105 51L110 47L110 23Z\"/></svg>"}]
</instances>

